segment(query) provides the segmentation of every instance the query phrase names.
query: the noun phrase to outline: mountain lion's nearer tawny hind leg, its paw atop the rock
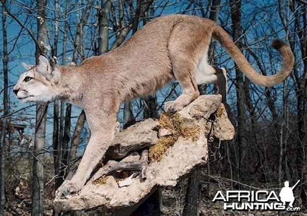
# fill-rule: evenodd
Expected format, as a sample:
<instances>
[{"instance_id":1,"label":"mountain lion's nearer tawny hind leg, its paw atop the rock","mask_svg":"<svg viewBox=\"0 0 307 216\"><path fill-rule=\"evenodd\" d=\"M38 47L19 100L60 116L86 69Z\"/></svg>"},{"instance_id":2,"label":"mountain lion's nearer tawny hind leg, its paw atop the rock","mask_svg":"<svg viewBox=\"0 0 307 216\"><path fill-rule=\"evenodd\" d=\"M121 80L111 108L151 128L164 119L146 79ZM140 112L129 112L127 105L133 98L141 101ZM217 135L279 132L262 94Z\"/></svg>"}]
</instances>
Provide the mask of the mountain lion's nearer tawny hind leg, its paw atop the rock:
<instances>
[{"instance_id":1,"label":"mountain lion's nearer tawny hind leg, its paw atop the rock","mask_svg":"<svg viewBox=\"0 0 307 216\"><path fill-rule=\"evenodd\" d=\"M194 23L182 22L177 23L171 32L168 44L169 57L182 94L175 101L167 102L165 111L180 111L199 96L196 70L202 54L208 50L211 32L202 31L202 28L194 30Z\"/></svg>"}]
</instances>

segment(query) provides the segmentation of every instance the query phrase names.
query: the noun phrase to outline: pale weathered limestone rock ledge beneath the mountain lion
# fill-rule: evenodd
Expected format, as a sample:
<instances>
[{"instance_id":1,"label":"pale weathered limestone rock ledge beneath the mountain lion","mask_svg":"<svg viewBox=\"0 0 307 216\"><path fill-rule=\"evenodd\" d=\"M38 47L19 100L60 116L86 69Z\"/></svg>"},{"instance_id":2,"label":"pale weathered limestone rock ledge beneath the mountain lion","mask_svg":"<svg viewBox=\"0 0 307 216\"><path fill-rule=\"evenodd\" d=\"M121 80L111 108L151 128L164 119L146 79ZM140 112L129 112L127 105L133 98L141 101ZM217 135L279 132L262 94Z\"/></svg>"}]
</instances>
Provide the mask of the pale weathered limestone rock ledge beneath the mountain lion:
<instances>
[{"instance_id":1,"label":"pale weathered limestone rock ledge beneath the mountain lion","mask_svg":"<svg viewBox=\"0 0 307 216\"><path fill-rule=\"evenodd\" d=\"M145 181L136 178L129 186L119 187L118 180L109 175L105 176L104 182L99 185L96 184L95 178L103 169L100 168L78 194L70 199L56 198L55 209L57 211L99 209L112 211L115 214L123 211L127 213L127 209L142 203L157 187L174 187L191 170L205 165L208 159L208 136L212 141L233 139L234 127L221 104L220 95L201 95L178 113L182 128L199 128L198 139L179 136L160 161L148 164ZM121 159L132 151L154 145L158 140L158 130L159 123L149 119L119 132L108 150L107 158ZM173 135L168 131L160 131L159 134L163 135L160 139ZM139 155L130 154L122 161L138 159Z\"/></svg>"}]
</instances>

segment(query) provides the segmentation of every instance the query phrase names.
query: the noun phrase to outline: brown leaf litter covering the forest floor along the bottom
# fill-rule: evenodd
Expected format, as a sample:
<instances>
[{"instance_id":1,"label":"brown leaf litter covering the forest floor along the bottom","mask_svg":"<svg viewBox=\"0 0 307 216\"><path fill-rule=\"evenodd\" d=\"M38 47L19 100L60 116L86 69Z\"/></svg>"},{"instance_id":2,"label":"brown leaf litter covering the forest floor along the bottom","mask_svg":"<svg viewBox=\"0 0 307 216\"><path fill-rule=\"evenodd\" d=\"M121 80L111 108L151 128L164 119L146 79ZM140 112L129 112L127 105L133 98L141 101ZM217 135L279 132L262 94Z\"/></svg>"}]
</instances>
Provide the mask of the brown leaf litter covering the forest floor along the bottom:
<instances>
[{"instance_id":1,"label":"brown leaf litter covering the forest floor along the bottom","mask_svg":"<svg viewBox=\"0 0 307 216\"><path fill-rule=\"evenodd\" d=\"M163 207L161 215L167 216L178 216L181 215L184 201L185 201L185 191L186 184L182 184L183 186L176 187L172 190L164 189L162 191L162 199L163 199ZM204 187L203 187L204 188ZM202 215L278 215L278 211L231 211L231 210L223 210L223 202L212 202L215 192L220 188L218 185L212 185L211 198L206 197L207 191L202 191L202 199L200 202L200 216ZM54 198L54 184L47 184L45 187L45 199L44 199L44 215L52 215L53 209L53 198ZM23 181L19 183L19 185L12 191L7 199L9 200L6 205L5 216L12 215L30 215L31 213L31 188L28 184L25 184ZM297 201L294 206L297 206ZM86 214L92 215L92 214ZM108 214L106 214L108 215ZM110 214L109 214L110 215ZM303 215L307 216L307 211L300 212L280 212L280 215Z\"/></svg>"}]
</instances>

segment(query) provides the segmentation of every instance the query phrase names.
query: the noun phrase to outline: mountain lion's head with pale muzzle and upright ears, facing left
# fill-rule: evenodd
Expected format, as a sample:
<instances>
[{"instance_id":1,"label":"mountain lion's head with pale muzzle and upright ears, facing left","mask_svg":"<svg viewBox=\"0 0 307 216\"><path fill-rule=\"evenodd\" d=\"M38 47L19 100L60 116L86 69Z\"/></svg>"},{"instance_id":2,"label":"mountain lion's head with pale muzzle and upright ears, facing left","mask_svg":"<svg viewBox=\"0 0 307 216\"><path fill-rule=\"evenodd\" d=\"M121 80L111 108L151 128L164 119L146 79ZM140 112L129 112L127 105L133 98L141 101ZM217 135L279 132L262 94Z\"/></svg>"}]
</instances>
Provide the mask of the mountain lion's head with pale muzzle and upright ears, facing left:
<instances>
[{"instance_id":1,"label":"mountain lion's head with pale muzzle and upright ears, facing left","mask_svg":"<svg viewBox=\"0 0 307 216\"><path fill-rule=\"evenodd\" d=\"M39 56L38 65L22 63L27 69L19 76L13 88L17 98L22 102L49 102L55 99L53 86L58 83L60 72L52 67L47 58Z\"/></svg>"}]
</instances>

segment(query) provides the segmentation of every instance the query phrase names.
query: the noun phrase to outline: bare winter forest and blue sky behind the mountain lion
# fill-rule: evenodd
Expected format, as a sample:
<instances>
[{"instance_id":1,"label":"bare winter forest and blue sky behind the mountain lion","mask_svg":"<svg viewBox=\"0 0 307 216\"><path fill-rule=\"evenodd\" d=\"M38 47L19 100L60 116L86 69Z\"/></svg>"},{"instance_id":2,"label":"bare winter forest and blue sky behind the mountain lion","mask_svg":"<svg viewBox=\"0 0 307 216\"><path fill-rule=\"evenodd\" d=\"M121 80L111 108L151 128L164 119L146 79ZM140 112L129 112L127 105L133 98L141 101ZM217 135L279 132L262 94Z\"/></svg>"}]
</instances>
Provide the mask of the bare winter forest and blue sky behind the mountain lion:
<instances>
[{"instance_id":1,"label":"bare winter forest and blue sky behind the mountain lion","mask_svg":"<svg viewBox=\"0 0 307 216\"><path fill-rule=\"evenodd\" d=\"M210 203L217 188L281 188L285 180L290 185L301 180L296 205L307 209L306 1L0 0L0 6L0 215L51 214L65 168L82 155L90 136L80 108L63 101L16 100L12 88L25 71L21 63L35 64L45 54L56 64L78 65L120 46L155 17L173 13L216 21L262 74L281 67L279 53L270 47L274 38L282 38L295 55L287 80L264 88L245 78L213 41L210 62L228 71L227 101L237 128L233 141L210 146L208 166L200 173L201 202ZM215 93L213 85L199 88ZM121 127L158 117L165 102L179 94L174 81L154 95L122 104ZM169 215L179 215L185 191L173 192Z\"/></svg>"}]
</instances>

